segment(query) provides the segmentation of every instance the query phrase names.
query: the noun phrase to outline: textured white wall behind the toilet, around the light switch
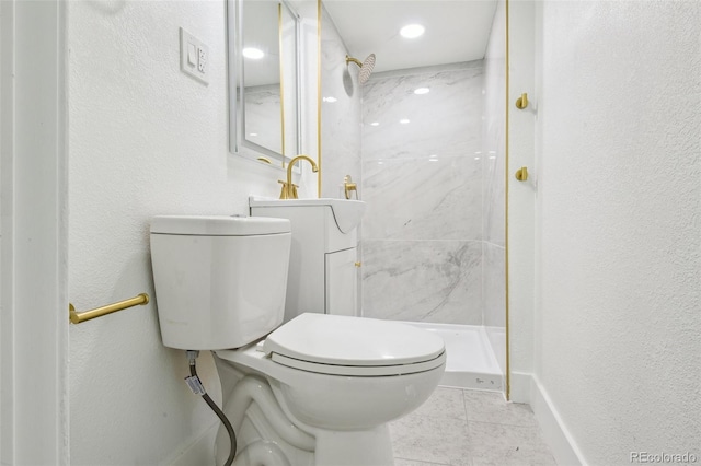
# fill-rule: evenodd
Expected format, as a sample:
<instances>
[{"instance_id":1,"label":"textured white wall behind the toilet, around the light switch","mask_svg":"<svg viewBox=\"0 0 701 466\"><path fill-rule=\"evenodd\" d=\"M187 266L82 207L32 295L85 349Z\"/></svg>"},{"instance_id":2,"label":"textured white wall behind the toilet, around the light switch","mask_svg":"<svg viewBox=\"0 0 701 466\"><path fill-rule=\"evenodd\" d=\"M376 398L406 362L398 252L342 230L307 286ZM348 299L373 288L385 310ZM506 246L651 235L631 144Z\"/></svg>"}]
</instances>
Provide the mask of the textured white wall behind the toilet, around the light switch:
<instances>
[{"instance_id":1,"label":"textured white wall behind the toilet, around the light switch","mask_svg":"<svg viewBox=\"0 0 701 466\"><path fill-rule=\"evenodd\" d=\"M149 221L248 212L281 172L228 153L223 1L69 2L69 295L80 310L148 292ZM180 71L179 27L209 46L209 85ZM314 102L315 103L315 102ZM208 353L199 372L217 398ZM156 465L216 417L162 347L154 302L70 328L74 465ZM203 461L204 463L204 461Z\"/></svg>"}]
</instances>

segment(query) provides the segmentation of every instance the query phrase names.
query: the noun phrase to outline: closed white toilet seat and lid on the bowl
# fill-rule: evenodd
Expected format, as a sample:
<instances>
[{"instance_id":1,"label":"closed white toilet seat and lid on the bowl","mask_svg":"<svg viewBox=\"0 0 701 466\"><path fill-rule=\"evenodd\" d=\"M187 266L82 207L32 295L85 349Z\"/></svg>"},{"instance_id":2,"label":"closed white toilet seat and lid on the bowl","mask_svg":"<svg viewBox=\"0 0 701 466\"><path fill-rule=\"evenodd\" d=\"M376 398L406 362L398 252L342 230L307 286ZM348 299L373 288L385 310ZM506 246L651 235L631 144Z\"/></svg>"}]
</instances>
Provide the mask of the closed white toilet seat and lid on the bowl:
<instances>
[{"instance_id":1,"label":"closed white toilet seat and lid on the bowl","mask_svg":"<svg viewBox=\"0 0 701 466\"><path fill-rule=\"evenodd\" d=\"M436 369L446 359L440 337L410 325L312 313L269 334L262 350L278 364L347 376L412 374Z\"/></svg>"}]
</instances>

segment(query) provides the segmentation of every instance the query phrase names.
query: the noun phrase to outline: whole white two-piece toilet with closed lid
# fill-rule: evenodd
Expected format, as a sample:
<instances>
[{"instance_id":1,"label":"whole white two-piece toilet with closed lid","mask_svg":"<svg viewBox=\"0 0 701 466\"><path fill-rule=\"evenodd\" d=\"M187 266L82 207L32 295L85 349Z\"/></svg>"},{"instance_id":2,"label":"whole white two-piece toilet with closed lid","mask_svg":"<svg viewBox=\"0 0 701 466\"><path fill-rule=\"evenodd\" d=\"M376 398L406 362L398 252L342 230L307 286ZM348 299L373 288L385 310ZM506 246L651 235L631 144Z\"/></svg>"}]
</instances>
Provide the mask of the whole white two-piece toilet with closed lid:
<instances>
[{"instance_id":1,"label":"whole white two-piece toilet with closed lid","mask_svg":"<svg viewBox=\"0 0 701 466\"><path fill-rule=\"evenodd\" d=\"M444 341L333 310L299 310L286 321L290 241L287 219L156 217L163 345L215 354L222 410L238 438L234 465L392 465L387 424L434 392ZM223 428L216 446L221 465Z\"/></svg>"}]
</instances>

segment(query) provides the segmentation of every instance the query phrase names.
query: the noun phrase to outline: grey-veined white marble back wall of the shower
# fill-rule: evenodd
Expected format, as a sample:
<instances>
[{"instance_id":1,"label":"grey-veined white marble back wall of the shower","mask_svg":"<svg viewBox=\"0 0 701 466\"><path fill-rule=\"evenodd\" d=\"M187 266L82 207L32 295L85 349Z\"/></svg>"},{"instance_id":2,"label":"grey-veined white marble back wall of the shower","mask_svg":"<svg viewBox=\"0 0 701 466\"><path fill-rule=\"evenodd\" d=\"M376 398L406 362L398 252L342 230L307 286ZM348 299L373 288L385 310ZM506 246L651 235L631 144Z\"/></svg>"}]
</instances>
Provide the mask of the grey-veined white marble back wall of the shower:
<instances>
[{"instance_id":1,"label":"grey-veined white marble back wall of the shower","mask_svg":"<svg viewBox=\"0 0 701 466\"><path fill-rule=\"evenodd\" d=\"M365 316L482 324L482 90L481 60L363 88Z\"/></svg>"}]
</instances>

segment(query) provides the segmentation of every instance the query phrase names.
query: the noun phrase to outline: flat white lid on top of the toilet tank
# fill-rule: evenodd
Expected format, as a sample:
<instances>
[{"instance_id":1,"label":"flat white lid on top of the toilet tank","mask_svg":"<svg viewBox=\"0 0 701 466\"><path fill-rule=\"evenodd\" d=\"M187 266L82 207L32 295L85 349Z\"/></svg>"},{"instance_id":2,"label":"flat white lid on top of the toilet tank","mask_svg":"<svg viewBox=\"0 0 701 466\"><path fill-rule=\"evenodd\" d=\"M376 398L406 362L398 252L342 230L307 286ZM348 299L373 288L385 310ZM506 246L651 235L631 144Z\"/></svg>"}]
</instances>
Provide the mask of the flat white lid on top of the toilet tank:
<instances>
[{"instance_id":1,"label":"flat white lid on top of the toilet tank","mask_svg":"<svg viewBox=\"0 0 701 466\"><path fill-rule=\"evenodd\" d=\"M253 236L289 232L289 220L268 217L158 215L151 220L152 234Z\"/></svg>"}]
</instances>

